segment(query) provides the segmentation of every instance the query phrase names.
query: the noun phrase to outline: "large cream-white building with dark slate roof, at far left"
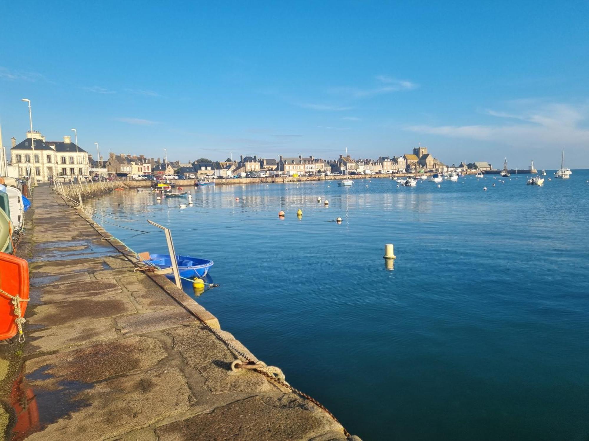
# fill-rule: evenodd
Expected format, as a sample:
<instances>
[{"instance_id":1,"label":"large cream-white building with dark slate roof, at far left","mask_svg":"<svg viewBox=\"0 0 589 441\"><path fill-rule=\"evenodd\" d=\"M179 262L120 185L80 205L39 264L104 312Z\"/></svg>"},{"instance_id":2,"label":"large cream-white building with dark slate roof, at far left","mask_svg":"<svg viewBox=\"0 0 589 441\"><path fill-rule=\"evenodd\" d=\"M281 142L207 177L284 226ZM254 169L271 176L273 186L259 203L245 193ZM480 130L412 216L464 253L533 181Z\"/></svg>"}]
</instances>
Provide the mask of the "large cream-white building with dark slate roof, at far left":
<instances>
[{"instance_id":1,"label":"large cream-white building with dark slate roof, at far left","mask_svg":"<svg viewBox=\"0 0 589 441\"><path fill-rule=\"evenodd\" d=\"M90 176L88 152L71 142L71 136L64 136L63 141L45 141L41 132L27 132L27 139L18 144L12 138L10 159L18 166L19 176L35 173L39 182L55 176Z\"/></svg>"}]
</instances>

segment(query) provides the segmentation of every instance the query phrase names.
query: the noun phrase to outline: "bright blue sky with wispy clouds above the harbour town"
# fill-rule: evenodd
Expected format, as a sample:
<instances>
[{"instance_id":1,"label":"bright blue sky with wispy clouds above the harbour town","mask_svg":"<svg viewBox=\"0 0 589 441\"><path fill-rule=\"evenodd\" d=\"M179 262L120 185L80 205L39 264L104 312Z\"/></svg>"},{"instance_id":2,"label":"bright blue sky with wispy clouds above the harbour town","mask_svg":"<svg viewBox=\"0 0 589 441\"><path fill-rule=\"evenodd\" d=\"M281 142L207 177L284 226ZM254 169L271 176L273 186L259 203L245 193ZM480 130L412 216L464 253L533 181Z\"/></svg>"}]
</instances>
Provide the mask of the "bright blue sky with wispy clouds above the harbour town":
<instances>
[{"instance_id":1,"label":"bright blue sky with wispy clouds above the harbour town","mask_svg":"<svg viewBox=\"0 0 589 441\"><path fill-rule=\"evenodd\" d=\"M32 26L28 21L33 17ZM587 2L0 1L2 141L589 168Z\"/></svg>"}]
</instances>

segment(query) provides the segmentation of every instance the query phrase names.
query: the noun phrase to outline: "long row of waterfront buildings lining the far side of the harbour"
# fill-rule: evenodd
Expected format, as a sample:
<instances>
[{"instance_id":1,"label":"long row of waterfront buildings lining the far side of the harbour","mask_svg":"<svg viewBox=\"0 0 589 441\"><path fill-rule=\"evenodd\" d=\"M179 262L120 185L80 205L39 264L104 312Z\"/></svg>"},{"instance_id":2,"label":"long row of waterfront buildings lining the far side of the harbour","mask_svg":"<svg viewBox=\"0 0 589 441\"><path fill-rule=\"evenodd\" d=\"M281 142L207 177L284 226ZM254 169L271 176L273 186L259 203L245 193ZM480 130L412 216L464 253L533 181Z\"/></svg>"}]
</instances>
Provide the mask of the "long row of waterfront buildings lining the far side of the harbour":
<instances>
[{"instance_id":1,"label":"long row of waterfront buildings lining the far side of the harbour","mask_svg":"<svg viewBox=\"0 0 589 441\"><path fill-rule=\"evenodd\" d=\"M34 143L34 153L32 153ZM316 175L321 173L383 173L383 172L445 172L452 168L491 169L487 162L473 162L459 166L448 166L428 152L425 146L413 149L413 153L402 156L380 156L378 159L353 159L349 155L339 155L337 159L315 158L313 156L280 156L258 158L240 156L239 161L208 162L166 161L148 158L144 155L117 155L110 153L108 158L93 158L80 146L64 136L62 141L47 141L40 132L27 132L27 138L16 143L12 138L11 166L18 176L31 176L35 173L38 181L48 181L55 176L132 176L181 174L187 178L203 175L230 177L239 173L262 173L284 175Z\"/></svg>"}]
</instances>

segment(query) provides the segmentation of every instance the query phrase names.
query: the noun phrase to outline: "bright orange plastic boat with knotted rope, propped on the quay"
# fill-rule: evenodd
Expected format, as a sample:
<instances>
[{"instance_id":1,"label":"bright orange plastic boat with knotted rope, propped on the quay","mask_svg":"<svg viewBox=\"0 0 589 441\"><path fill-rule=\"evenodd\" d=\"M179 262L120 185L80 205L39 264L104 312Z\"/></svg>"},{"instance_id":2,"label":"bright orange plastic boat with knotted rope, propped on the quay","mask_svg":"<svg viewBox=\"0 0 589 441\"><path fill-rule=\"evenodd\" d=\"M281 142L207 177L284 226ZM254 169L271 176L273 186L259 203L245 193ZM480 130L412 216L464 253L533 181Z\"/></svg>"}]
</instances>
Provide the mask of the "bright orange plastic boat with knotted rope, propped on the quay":
<instances>
[{"instance_id":1,"label":"bright orange plastic boat with knotted rope, propped on the quay","mask_svg":"<svg viewBox=\"0 0 589 441\"><path fill-rule=\"evenodd\" d=\"M0 253L0 289L9 296L18 296L23 300L29 298L29 264L27 260ZM24 318L28 302L19 302L20 311L15 311L12 297L0 292L0 340L16 335L18 320ZM16 313L15 313L16 312ZM22 335L22 330L20 332Z\"/></svg>"}]
</instances>

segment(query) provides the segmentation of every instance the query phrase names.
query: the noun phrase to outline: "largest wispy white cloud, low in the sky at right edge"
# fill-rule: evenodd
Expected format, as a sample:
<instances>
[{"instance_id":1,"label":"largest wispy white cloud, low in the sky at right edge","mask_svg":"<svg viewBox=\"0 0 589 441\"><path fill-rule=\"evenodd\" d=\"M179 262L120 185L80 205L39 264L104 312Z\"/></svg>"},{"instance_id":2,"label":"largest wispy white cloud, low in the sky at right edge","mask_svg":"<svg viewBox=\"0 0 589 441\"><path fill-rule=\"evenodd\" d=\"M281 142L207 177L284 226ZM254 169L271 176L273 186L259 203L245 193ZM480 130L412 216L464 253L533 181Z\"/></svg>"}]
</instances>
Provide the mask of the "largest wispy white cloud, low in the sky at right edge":
<instances>
[{"instance_id":1,"label":"largest wispy white cloud, low in the sky at right edge","mask_svg":"<svg viewBox=\"0 0 589 441\"><path fill-rule=\"evenodd\" d=\"M477 141L501 142L514 146L562 146L589 144L588 105L550 103L516 112L488 110L487 115L497 118L516 119L497 125L413 125L408 131L430 133L451 138L475 139Z\"/></svg>"}]
</instances>

